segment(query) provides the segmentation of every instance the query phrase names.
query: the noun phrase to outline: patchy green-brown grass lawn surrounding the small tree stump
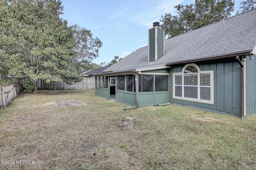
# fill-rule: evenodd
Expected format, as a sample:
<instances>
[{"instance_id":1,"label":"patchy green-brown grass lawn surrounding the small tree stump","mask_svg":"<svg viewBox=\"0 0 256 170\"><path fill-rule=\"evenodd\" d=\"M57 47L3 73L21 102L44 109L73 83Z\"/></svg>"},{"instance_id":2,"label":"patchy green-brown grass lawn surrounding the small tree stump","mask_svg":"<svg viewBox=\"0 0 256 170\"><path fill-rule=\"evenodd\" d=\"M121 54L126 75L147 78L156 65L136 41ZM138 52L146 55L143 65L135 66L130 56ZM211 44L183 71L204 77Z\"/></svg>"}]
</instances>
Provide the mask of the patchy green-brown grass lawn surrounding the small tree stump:
<instances>
[{"instance_id":1,"label":"patchy green-brown grass lawn surrounding the small tree stump","mask_svg":"<svg viewBox=\"0 0 256 170\"><path fill-rule=\"evenodd\" d=\"M66 100L87 106L54 104ZM256 169L255 116L241 121L172 104L126 107L93 90L19 95L0 110L0 169ZM136 125L122 127L126 117L136 117Z\"/></svg>"}]
</instances>

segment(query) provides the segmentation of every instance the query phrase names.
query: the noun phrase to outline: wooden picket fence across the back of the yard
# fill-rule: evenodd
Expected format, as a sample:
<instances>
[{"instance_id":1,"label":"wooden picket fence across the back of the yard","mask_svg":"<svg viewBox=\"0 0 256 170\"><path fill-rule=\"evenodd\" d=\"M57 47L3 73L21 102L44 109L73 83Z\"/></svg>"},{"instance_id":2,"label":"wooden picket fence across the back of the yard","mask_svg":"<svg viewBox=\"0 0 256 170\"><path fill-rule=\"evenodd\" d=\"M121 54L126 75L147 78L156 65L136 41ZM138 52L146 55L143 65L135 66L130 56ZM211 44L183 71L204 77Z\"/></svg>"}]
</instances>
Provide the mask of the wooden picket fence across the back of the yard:
<instances>
[{"instance_id":1,"label":"wooden picket fence across the back of the yard","mask_svg":"<svg viewBox=\"0 0 256 170\"><path fill-rule=\"evenodd\" d=\"M45 80L39 79L37 81L38 90L90 90L95 87L95 77L84 77L83 81L68 85L67 83L61 81L50 81L46 83Z\"/></svg>"}]
</instances>

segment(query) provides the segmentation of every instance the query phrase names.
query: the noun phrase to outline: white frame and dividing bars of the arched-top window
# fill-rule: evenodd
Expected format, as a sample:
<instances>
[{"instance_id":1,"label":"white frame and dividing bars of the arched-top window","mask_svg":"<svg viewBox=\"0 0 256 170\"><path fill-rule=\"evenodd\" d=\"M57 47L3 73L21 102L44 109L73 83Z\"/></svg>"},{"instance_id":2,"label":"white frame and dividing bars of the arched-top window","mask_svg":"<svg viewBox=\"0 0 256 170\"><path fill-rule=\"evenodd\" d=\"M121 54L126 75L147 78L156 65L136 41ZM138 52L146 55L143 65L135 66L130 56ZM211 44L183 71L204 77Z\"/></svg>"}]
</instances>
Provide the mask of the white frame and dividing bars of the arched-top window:
<instances>
[{"instance_id":1,"label":"white frame and dividing bars of the arched-top window","mask_svg":"<svg viewBox=\"0 0 256 170\"><path fill-rule=\"evenodd\" d=\"M194 74L198 74L198 85L195 86L195 87L198 87L198 98L197 99L184 97L184 74L186 74L186 73L184 73L184 71L190 65L196 67L196 69L198 70L198 73L194 73ZM201 86L200 85L200 74L201 73L210 73L210 101L200 99L200 87L209 87L209 86ZM175 96L175 75L182 75L182 85L178 85L178 86L182 87L182 97ZM172 83L172 98L173 99L194 101L194 102L207 103L207 104L214 105L214 71L213 70L200 71L200 68L198 67L198 65L196 65L194 63L186 64L180 73L172 73L172 79L173 79L173 83Z\"/></svg>"}]
</instances>

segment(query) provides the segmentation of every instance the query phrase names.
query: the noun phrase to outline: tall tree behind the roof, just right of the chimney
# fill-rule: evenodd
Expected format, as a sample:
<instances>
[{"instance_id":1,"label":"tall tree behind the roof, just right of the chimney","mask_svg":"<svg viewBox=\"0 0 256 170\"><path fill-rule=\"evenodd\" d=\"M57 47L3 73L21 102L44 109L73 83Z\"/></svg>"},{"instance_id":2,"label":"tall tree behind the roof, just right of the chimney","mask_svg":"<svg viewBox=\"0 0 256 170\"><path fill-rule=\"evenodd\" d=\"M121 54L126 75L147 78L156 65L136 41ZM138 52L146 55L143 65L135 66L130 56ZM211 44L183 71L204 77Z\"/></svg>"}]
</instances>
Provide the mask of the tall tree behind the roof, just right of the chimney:
<instances>
[{"instance_id":1,"label":"tall tree behind the roof, just right of the chimney","mask_svg":"<svg viewBox=\"0 0 256 170\"><path fill-rule=\"evenodd\" d=\"M167 13L160 20L168 38L228 18L234 11L234 0L196 0L195 4L174 8L178 15Z\"/></svg>"}]
</instances>

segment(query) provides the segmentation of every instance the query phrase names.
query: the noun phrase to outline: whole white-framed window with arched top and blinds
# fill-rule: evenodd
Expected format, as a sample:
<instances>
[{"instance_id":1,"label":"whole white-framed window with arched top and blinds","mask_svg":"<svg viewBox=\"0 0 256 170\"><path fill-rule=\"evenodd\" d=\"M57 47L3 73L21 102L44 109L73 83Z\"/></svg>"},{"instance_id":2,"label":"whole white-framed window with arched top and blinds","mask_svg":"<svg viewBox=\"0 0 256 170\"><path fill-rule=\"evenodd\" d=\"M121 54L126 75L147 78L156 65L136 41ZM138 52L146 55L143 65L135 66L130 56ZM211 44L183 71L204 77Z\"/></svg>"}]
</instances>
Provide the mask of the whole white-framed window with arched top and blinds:
<instances>
[{"instance_id":1,"label":"whole white-framed window with arched top and blinds","mask_svg":"<svg viewBox=\"0 0 256 170\"><path fill-rule=\"evenodd\" d=\"M213 104L213 71L187 64L181 73L173 73L173 98Z\"/></svg>"}]
</instances>

